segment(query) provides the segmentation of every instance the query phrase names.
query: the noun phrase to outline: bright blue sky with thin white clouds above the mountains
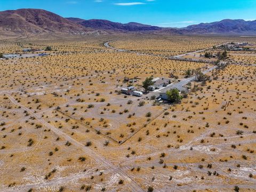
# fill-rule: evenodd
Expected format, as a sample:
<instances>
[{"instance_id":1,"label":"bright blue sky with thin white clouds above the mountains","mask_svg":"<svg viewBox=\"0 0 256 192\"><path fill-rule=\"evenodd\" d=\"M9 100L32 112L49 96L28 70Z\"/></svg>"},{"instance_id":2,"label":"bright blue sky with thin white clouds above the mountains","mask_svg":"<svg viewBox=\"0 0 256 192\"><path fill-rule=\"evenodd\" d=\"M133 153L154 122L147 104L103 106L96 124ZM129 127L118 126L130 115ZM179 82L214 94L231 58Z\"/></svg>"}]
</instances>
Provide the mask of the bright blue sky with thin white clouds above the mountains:
<instances>
[{"instance_id":1,"label":"bright blue sky with thin white clouds above the mountains","mask_svg":"<svg viewBox=\"0 0 256 192\"><path fill-rule=\"evenodd\" d=\"M45 9L62 17L185 27L222 19L256 20L256 0L0 0L0 11Z\"/></svg>"}]
</instances>

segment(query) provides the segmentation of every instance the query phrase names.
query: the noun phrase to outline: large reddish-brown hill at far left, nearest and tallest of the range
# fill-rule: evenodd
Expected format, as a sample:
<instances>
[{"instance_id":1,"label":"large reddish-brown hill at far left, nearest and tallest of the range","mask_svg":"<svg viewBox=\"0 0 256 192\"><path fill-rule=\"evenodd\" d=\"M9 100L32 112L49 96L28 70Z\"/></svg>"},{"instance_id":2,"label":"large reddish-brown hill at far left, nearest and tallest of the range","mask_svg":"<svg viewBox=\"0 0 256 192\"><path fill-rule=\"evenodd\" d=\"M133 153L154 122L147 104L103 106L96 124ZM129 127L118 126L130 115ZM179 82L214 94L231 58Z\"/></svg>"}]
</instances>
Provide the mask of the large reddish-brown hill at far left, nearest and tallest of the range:
<instances>
[{"instance_id":1,"label":"large reddish-brown hill at far left, nearest and tallest of the range","mask_svg":"<svg viewBox=\"0 0 256 192\"><path fill-rule=\"evenodd\" d=\"M1 34L29 35L64 33L83 35L91 29L39 9L19 9L0 12Z\"/></svg>"}]
</instances>

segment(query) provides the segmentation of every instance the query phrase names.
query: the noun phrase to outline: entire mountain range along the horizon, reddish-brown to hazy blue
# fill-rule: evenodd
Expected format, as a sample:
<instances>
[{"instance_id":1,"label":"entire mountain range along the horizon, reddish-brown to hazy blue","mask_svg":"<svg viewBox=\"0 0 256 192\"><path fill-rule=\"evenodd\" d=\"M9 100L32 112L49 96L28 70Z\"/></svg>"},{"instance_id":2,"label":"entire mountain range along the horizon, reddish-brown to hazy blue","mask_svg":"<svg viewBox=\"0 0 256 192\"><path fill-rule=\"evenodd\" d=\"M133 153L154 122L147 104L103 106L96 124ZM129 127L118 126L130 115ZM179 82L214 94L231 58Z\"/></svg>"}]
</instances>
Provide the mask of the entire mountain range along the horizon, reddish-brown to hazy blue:
<instances>
[{"instance_id":1,"label":"entire mountain range along the horizon, reddish-brown to hazy blue","mask_svg":"<svg viewBox=\"0 0 256 192\"><path fill-rule=\"evenodd\" d=\"M242 19L200 23L185 28L164 28L137 22L119 23L108 20L63 18L41 9L19 9L0 12L0 37L47 34L179 34L179 35L255 35L256 20Z\"/></svg>"}]
</instances>

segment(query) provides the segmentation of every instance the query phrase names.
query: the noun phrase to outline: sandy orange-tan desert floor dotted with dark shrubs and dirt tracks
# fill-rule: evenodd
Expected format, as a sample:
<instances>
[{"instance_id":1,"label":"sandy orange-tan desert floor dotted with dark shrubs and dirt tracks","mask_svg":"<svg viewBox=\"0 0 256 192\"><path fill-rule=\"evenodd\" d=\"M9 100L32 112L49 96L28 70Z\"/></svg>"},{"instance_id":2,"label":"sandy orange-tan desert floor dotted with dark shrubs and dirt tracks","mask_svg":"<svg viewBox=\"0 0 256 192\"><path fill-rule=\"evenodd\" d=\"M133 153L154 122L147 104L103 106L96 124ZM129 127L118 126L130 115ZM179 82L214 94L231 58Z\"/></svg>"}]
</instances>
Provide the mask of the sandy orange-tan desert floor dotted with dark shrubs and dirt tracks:
<instances>
[{"instance_id":1,"label":"sandy orange-tan desert floor dotted with dark shrubs and dirt tracks","mask_svg":"<svg viewBox=\"0 0 256 192\"><path fill-rule=\"evenodd\" d=\"M201 57L228 42L256 38L1 40L0 53L22 57L0 59L0 191L256 191L256 51ZM198 68L207 81L185 77ZM121 93L147 77L185 97Z\"/></svg>"}]
</instances>

